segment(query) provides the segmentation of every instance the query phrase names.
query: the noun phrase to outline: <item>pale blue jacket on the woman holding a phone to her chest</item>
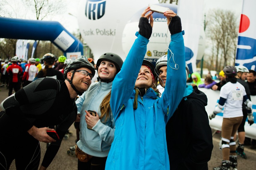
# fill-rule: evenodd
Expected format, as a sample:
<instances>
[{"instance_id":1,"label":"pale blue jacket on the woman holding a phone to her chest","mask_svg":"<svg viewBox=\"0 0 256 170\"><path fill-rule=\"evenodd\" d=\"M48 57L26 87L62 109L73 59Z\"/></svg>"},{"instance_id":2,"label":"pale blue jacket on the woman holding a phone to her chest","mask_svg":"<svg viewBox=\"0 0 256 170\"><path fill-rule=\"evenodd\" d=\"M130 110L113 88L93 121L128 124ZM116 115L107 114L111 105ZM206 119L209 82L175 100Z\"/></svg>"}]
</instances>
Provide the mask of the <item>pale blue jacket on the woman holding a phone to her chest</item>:
<instances>
[{"instance_id":1,"label":"pale blue jacket on the woman holding a phone to her chest","mask_svg":"<svg viewBox=\"0 0 256 170\"><path fill-rule=\"evenodd\" d=\"M94 82L76 101L78 113L81 113L79 132L80 140L77 142L77 146L85 153L95 157L108 156L111 143L114 140L114 117L109 113L110 119L106 122L104 122L104 118L102 119L102 122L99 120L96 125L93 126L93 130L90 130L87 129L85 110L95 110L100 117L100 104L103 98L108 94L108 92L110 92L111 87L112 82Z\"/></svg>"}]
</instances>

